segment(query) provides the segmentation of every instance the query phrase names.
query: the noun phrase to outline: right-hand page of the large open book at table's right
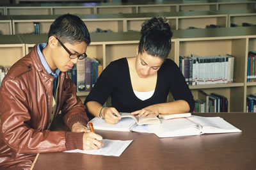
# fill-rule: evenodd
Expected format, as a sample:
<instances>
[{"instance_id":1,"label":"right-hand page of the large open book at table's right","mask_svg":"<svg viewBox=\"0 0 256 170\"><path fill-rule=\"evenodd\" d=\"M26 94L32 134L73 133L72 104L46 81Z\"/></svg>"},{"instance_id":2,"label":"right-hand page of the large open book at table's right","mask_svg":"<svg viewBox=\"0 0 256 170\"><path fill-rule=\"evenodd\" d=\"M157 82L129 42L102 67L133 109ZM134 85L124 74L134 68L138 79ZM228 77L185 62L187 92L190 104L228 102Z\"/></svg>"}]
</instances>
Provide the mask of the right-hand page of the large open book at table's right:
<instances>
[{"instance_id":1,"label":"right-hand page of the large open book at table's right","mask_svg":"<svg viewBox=\"0 0 256 170\"><path fill-rule=\"evenodd\" d=\"M220 117L191 116L188 119L203 127L202 134L242 132Z\"/></svg>"}]
</instances>

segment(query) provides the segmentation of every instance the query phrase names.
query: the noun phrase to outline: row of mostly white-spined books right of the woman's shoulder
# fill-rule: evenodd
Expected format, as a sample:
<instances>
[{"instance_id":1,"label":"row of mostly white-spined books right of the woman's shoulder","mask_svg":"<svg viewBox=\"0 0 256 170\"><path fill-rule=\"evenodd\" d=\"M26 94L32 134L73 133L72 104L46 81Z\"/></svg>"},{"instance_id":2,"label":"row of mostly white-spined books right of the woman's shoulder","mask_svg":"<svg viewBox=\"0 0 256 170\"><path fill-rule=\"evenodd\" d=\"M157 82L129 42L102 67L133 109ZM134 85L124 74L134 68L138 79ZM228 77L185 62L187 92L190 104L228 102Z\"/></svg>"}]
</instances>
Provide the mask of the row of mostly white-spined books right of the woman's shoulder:
<instances>
[{"instance_id":1,"label":"row of mostly white-spined books right of the woman's shoulder","mask_svg":"<svg viewBox=\"0 0 256 170\"><path fill-rule=\"evenodd\" d=\"M234 57L180 56L179 68L189 85L230 83L234 77Z\"/></svg>"}]
</instances>

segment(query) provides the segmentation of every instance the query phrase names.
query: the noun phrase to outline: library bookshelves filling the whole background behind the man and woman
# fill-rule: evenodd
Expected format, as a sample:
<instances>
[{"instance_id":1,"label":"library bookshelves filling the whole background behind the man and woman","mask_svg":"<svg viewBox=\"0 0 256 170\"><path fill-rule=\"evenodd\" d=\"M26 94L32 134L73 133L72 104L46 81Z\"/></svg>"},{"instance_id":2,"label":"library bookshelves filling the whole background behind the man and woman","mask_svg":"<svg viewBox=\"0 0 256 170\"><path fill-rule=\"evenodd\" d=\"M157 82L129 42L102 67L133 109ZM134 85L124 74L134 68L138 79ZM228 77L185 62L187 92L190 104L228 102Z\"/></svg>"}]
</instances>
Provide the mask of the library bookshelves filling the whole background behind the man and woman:
<instances>
[{"instance_id":1,"label":"library bookshelves filling the whole background behind the man and woman","mask_svg":"<svg viewBox=\"0 0 256 170\"><path fill-rule=\"evenodd\" d=\"M256 112L256 0L3 0L1 80L36 43L47 42L51 23L64 13L81 17L92 38L88 58L69 72L82 100L111 61L136 55L141 23L159 16L172 23L168 58L183 73L195 112Z\"/></svg>"}]
</instances>

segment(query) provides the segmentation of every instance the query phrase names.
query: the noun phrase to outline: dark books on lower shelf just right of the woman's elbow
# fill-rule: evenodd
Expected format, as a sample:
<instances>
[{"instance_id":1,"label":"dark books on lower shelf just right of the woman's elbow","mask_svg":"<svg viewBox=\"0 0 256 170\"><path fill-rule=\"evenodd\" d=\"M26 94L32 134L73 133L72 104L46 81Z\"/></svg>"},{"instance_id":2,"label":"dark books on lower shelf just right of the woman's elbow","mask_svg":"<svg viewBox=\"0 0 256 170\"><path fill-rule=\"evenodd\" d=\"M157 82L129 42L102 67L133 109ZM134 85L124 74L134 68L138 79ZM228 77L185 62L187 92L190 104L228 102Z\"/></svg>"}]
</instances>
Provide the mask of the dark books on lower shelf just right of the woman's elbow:
<instances>
[{"instance_id":1,"label":"dark books on lower shelf just right of the woman's elbow","mask_svg":"<svg viewBox=\"0 0 256 170\"><path fill-rule=\"evenodd\" d=\"M207 94L199 90L194 112L228 112L227 97L217 93Z\"/></svg>"}]
</instances>

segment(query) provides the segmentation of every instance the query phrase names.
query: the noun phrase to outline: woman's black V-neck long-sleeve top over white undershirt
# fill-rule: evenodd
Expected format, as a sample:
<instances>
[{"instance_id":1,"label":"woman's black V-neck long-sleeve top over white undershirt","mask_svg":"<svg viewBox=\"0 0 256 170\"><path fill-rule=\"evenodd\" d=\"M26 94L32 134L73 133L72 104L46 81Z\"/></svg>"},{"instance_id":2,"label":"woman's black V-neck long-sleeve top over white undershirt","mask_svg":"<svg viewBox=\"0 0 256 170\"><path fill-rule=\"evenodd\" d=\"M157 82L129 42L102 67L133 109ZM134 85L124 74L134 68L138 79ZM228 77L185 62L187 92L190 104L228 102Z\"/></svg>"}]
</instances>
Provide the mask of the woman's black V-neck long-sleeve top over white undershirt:
<instances>
[{"instance_id":1,"label":"woman's black V-neck long-sleeve top over white undershirt","mask_svg":"<svg viewBox=\"0 0 256 170\"><path fill-rule=\"evenodd\" d=\"M157 71L157 84L152 97L140 100L133 92L129 66L126 58L112 61L101 73L86 102L95 101L104 104L111 97L111 107L118 112L133 112L149 105L165 103L168 93L175 100L185 100L190 112L195 107L195 100L186 84L179 67L171 59L166 59Z\"/></svg>"}]
</instances>

